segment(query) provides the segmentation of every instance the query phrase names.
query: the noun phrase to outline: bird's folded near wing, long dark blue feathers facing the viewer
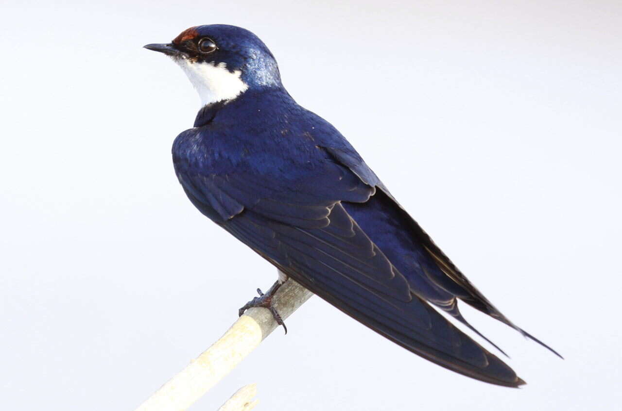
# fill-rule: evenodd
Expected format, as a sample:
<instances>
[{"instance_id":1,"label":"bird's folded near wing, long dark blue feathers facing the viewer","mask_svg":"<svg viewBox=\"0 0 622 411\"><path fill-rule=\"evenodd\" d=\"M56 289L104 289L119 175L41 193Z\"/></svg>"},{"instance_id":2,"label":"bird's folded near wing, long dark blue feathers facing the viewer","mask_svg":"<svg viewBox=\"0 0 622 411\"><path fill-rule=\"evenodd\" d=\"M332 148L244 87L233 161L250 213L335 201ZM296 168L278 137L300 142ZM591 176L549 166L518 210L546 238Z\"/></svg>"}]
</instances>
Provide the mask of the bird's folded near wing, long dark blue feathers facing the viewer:
<instances>
[{"instance_id":1,"label":"bird's folded near wing, long dark blue feathers facing the viewer","mask_svg":"<svg viewBox=\"0 0 622 411\"><path fill-rule=\"evenodd\" d=\"M501 386L524 384L417 296L348 214L344 204L364 203L376 186L383 187L373 173L343 165L328 151L326 161L305 173L278 179L241 170L204 174L185 160L174 161L183 188L203 214L314 294L440 366Z\"/></svg>"}]
</instances>

